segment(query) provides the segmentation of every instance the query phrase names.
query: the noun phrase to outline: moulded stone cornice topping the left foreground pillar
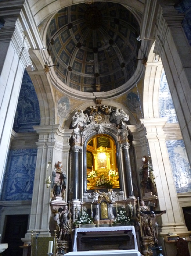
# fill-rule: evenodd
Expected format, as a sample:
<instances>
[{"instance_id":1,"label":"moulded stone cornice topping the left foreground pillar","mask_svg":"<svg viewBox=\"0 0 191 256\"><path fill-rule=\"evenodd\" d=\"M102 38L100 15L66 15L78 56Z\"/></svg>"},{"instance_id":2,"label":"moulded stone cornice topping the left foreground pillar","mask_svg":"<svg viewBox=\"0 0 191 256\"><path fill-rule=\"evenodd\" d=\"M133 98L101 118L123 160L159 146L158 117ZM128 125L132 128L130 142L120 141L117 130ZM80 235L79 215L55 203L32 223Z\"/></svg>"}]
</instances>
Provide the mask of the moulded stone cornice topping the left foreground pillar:
<instances>
[{"instance_id":1,"label":"moulded stone cornice topping the left foreground pillar","mask_svg":"<svg viewBox=\"0 0 191 256\"><path fill-rule=\"evenodd\" d=\"M10 43L24 67L31 65L30 49L42 49L43 43L27 1L1 1L0 43Z\"/></svg>"}]
</instances>

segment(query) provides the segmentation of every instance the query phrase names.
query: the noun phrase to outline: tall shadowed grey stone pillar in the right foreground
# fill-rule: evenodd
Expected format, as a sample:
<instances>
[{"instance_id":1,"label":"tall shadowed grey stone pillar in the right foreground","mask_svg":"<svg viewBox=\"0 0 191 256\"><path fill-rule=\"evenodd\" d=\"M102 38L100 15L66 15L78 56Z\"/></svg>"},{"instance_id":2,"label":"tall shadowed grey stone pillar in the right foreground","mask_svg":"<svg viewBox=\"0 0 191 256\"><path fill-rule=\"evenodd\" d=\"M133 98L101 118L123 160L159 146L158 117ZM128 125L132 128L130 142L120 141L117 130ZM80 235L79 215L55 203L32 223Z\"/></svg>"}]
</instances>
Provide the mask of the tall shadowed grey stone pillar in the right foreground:
<instances>
[{"instance_id":1,"label":"tall shadowed grey stone pillar in the right foreground","mask_svg":"<svg viewBox=\"0 0 191 256\"><path fill-rule=\"evenodd\" d=\"M183 30L184 14L176 1L157 3L154 52L161 57L191 165L191 47Z\"/></svg>"}]
</instances>

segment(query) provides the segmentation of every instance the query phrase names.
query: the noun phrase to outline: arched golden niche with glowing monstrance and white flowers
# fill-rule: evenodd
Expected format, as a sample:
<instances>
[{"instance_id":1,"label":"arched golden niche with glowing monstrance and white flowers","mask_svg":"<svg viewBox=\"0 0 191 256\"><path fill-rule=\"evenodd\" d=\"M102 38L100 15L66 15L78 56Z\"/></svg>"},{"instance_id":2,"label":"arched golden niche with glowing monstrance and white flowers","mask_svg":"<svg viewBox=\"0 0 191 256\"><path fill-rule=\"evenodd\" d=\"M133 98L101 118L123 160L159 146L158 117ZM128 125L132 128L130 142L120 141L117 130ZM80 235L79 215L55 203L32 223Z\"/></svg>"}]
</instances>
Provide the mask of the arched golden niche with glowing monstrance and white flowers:
<instances>
[{"instance_id":1,"label":"arched golden niche with glowing monstrance and white flowers","mask_svg":"<svg viewBox=\"0 0 191 256\"><path fill-rule=\"evenodd\" d=\"M107 135L94 136L87 145L87 190L120 188L116 145Z\"/></svg>"}]
</instances>

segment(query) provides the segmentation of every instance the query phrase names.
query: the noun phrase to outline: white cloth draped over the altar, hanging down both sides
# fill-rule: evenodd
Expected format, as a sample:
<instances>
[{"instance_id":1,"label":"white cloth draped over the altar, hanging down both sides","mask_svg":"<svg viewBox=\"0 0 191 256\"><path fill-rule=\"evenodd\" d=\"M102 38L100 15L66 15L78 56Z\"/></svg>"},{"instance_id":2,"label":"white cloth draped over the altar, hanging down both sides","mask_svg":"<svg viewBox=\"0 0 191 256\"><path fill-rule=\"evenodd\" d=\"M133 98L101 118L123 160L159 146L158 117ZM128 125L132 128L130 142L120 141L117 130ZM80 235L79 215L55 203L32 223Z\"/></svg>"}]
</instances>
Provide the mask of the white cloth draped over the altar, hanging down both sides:
<instances>
[{"instance_id":1,"label":"white cloth draped over the altar, hanging down both sides","mask_svg":"<svg viewBox=\"0 0 191 256\"><path fill-rule=\"evenodd\" d=\"M94 228L76 228L75 234L74 234L74 247L73 251L77 252L77 233L78 232L104 232L104 231L117 231L117 230L132 230L132 233L134 235L134 242L135 242L135 250L138 251L138 245L136 241L136 233L135 233L135 227L134 226L120 226L120 227L94 227ZM126 250L123 250L126 251ZM129 250L127 250L129 251ZM92 252L92 251L91 251Z\"/></svg>"}]
</instances>

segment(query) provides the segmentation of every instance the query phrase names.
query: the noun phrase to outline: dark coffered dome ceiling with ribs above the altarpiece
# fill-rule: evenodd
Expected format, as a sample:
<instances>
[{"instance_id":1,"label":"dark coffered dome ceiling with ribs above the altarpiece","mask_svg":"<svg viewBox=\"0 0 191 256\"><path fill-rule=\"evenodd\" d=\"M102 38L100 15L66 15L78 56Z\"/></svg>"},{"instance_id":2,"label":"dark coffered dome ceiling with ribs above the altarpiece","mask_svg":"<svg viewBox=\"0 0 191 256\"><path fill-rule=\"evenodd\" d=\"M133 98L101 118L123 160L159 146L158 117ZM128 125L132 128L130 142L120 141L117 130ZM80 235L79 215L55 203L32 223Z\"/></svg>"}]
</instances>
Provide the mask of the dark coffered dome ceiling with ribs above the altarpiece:
<instances>
[{"instance_id":1,"label":"dark coffered dome ceiling with ribs above the altarpiece","mask_svg":"<svg viewBox=\"0 0 191 256\"><path fill-rule=\"evenodd\" d=\"M63 83L83 92L110 91L136 68L136 18L121 4L75 4L50 22L47 48Z\"/></svg>"}]
</instances>

